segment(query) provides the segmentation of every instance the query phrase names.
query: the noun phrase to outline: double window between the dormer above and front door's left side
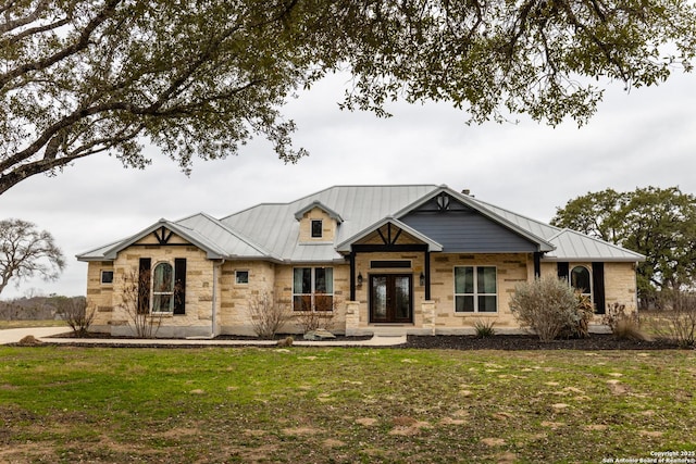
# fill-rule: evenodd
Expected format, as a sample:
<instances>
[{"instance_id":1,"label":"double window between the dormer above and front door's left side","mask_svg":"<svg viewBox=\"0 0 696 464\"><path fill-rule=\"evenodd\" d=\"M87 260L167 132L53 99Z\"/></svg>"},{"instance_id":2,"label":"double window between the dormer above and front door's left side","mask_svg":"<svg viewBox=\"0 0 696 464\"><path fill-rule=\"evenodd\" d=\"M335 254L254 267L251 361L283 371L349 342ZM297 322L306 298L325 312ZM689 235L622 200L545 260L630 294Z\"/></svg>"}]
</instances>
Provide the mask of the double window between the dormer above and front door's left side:
<instances>
[{"instance_id":1,"label":"double window between the dormer above and front door's left side","mask_svg":"<svg viewBox=\"0 0 696 464\"><path fill-rule=\"evenodd\" d=\"M293 310L332 311L334 309L334 269L296 267L293 272Z\"/></svg>"}]
</instances>

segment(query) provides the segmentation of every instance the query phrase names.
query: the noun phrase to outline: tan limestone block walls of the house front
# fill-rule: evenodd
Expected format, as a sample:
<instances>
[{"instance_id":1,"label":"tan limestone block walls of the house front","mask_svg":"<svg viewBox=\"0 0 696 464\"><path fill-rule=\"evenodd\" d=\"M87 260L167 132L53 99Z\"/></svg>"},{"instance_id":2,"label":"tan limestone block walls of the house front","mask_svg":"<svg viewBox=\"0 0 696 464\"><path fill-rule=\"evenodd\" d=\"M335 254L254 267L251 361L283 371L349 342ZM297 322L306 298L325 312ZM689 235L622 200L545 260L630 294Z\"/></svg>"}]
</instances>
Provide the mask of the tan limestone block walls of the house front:
<instances>
[{"instance_id":1,"label":"tan limestone block walls of the house front","mask_svg":"<svg viewBox=\"0 0 696 464\"><path fill-rule=\"evenodd\" d=\"M174 263L176 258L187 260L186 314L164 315L158 336L190 337L220 334L254 335L250 322L249 305L264 296L287 308L293 317L283 328L286 333L300 333L301 321L293 311L293 276L295 267L312 267L310 264L281 265L266 261L209 260L203 251L190 243L170 240L159 244L145 239L123 250L113 261L90 262L88 266L87 298L95 308L92 329L113 335L132 334L128 311L122 292L124 283L135 278L142 256L160 262ZM356 259L356 275L362 285L356 285L356 300L350 301L350 266L334 263L334 310L330 328L348 335L371 334L389 327L398 327L411 334L472 334L477 322L494 323L498 333L514 333L519 326L510 312L509 301L519 283L534 277L531 254L440 254L431 253L431 298L425 299L421 274L425 272L425 253L374 252L360 253ZM375 267L376 263L378 267ZM384 267L385 263L397 267ZM571 263L585 265L591 263ZM322 265L325 266L325 265ZM314 267L322 267L314 266ZM455 311L455 268L457 266L494 266L497 276L497 312L461 313ZM103 271L113 272L112 284L101 283ZM556 275L556 263L542 263L542 275ZM241 273L241 281L237 280ZM370 323L369 281L374 274L410 275L412 281L413 321L408 324L381 325ZM245 281L246 280L246 281ZM635 269L632 263L606 263L605 298L607 305L625 304L636 309ZM595 323L599 323L597 317Z\"/></svg>"}]
</instances>

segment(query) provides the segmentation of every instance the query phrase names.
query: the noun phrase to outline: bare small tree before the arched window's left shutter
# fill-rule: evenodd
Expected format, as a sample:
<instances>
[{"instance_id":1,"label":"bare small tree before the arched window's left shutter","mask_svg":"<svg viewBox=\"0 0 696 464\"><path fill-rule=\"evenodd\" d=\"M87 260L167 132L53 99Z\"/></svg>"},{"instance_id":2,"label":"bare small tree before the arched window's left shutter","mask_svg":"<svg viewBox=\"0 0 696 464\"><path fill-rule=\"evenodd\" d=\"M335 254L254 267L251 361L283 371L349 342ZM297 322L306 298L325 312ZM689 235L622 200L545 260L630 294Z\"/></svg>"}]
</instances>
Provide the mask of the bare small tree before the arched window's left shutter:
<instances>
[{"instance_id":1,"label":"bare small tree before the arched window's left shutter","mask_svg":"<svg viewBox=\"0 0 696 464\"><path fill-rule=\"evenodd\" d=\"M129 271L124 274L121 286L121 308L128 317L128 325L136 337L154 338L162 325L162 313L150 313L145 303L150 294L150 275Z\"/></svg>"}]
</instances>

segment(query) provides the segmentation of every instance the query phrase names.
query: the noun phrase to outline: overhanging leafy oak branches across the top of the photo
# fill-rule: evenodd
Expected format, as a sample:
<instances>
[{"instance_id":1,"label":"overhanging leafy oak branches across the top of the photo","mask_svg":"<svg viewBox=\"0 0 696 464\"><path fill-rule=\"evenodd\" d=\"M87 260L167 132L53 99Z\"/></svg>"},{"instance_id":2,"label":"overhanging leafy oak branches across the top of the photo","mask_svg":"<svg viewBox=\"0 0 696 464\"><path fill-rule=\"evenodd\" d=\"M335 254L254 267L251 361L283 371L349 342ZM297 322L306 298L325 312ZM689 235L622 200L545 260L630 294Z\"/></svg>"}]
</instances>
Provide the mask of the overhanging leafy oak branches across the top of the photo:
<instances>
[{"instance_id":1,"label":"overhanging leafy oak branches across the top of the photo","mask_svg":"<svg viewBox=\"0 0 696 464\"><path fill-rule=\"evenodd\" d=\"M184 171L253 136L291 145L282 106L326 73L343 108L450 101L472 122L584 123L601 85L691 71L688 0L5 0L0 2L0 193L97 154Z\"/></svg>"}]
</instances>

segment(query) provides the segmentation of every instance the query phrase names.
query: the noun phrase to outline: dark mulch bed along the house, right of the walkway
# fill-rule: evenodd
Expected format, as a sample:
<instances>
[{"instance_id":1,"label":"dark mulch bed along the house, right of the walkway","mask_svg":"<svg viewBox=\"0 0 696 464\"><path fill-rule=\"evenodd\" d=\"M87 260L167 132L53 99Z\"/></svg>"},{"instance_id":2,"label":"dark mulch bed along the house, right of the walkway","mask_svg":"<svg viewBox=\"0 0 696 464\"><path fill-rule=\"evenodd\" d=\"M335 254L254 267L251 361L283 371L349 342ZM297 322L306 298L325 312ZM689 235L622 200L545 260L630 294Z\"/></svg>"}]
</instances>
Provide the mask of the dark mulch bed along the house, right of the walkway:
<instances>
[{"instance_id":1,"label":"dark mulch bed along the house, right of the walkway","mask_svg":"<svg viewBox=\"0 0 696 464\"><path fill-rule=\"evenodd\" d=\"M668 340L619 340L611 334L592 334L588 338L539 341L533 335L496 335L477 338L473 335L409 335L399 348L450 350L670 350L678 349Z\"/></svg>"}]
</instances>

